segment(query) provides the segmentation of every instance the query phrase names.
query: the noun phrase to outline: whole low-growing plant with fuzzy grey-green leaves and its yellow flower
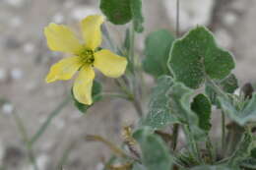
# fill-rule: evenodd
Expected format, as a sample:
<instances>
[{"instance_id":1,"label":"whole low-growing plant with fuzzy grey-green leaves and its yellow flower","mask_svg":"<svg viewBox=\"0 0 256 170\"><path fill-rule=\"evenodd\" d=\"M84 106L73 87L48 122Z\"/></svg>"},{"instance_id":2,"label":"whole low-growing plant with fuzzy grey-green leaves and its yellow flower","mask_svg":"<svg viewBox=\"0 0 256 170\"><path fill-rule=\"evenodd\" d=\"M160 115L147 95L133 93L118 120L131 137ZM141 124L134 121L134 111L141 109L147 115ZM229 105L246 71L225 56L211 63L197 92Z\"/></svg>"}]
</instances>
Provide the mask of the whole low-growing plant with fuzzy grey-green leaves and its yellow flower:
<instances>
[{"instance_id":1,"label":"whole low-growing plant with fuzzy grey-green leaves and its yellow flower","mask_svg":"<svg viewBox=\"0 0 256 170\"><path fill-rule=\"evenodd\" d=\"M142 0L100 0L106 21L130 23L119 44L99 15L81 22L82 43L65 26L50 24L44 30L51 50L73 56L51 67L47 83L69 80L78 71L71 93L82 113L109 96L132 102L138 113L138 121L123 128L120 147L96 135L86 138L113 151L104 169L256 169L256 94L250 84L239 87L231 53L217 44L208 28L197 26L179 37L177 25L176 35L167 29L149 33L142 59L136 53L136 35L144 30L142 6ZM102 91L93 68L115 78L118 90ZM145 73L156 82L150 96ZM220 115L220 123L211 121L213 114ZM40 137L51 119L29 143ZM210 136L219 129L222 133Z\"/></svg>"}]
</instances>

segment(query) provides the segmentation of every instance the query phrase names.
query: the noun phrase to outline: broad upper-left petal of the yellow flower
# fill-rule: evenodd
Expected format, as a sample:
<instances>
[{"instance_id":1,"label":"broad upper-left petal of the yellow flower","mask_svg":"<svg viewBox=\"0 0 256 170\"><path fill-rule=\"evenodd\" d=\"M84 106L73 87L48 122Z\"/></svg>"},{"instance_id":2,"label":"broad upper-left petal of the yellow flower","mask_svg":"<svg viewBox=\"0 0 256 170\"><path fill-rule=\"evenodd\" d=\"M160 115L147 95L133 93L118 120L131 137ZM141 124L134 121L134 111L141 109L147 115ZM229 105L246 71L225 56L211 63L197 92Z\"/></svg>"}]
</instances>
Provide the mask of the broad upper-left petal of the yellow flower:
<instances>
[{"instance_id":1,"label":"broad upper-left petal of the yellow flower","mask_svg":"<svg viewBox=\"0 0 256 170\"><path fill-rule=\"evenodd\" d=\"M83 47L75 33L63 25L50 24L44 28L48 47L52 51L78 53Z\"/></svg>"}]
</instances>

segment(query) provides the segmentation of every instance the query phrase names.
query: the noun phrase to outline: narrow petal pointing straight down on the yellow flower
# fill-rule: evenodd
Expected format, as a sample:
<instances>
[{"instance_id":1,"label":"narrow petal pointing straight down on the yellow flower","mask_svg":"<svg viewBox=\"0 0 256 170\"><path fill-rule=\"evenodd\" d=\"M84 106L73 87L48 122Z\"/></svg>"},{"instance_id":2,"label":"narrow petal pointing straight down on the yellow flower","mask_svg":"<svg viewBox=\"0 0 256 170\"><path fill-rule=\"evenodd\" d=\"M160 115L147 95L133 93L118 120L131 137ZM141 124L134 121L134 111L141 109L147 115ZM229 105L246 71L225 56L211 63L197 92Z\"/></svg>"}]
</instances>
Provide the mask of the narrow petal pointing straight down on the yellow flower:
<instances>
[{"instance_id":1,"label":"narrow petal pointing straight down on the yellow flower","mask_svg":"<svg viewBox=\"0 0 256 170\"><path fill-rule=\"evenodd\" d=\"M79 76L73 86L74 96L79 102L87 105L93 103L92 88L94 79L95 71L92 66L85 66L80 70Z\"/></svg>"}]
</instances>

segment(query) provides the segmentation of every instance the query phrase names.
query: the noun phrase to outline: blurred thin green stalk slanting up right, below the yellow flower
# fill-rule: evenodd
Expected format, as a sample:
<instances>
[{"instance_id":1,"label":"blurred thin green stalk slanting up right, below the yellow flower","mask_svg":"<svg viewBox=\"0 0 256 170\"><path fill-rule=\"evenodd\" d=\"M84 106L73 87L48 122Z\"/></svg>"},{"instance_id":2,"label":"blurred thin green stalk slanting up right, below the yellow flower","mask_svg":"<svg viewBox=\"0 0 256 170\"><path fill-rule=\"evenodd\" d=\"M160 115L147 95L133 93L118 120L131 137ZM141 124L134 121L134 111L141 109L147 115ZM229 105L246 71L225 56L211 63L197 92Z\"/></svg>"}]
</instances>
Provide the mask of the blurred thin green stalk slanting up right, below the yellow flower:
<instances>
[{"instance_id":1,"label":"blurred thin green stalk slanting up right, below the yellow flower","mask_svg":"<svg viewBox=\"0 0 256 170\"><path fill-rule=\"evenodd\" d=\"M48 128L50 125L51 121L61 113L62 109L67 106L67 104L70 102L71 97L68 96L66 97L47 117L46 121L41 125L39 130L35 133L35 135L32 136L31 144L36 142L42 134L45 132L45 130Z\"/></svg>"}]
</instances>

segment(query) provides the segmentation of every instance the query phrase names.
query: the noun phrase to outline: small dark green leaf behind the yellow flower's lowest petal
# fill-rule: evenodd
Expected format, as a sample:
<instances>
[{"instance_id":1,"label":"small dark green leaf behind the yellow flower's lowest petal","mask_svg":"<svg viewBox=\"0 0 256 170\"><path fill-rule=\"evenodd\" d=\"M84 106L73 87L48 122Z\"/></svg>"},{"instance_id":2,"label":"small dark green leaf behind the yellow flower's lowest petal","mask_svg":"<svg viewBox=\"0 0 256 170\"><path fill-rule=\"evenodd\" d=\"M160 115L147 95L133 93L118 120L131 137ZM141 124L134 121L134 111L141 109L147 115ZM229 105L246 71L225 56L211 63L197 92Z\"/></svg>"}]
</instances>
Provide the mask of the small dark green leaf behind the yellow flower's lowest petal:
<instances>
[{"instance_id":1,"label":"small dark green leaf behind the yellow flower's lowest petal","mask_svg":"<svg viewBox=\"0 0 256 170\"><path fill-rule=\"evenodd\" d=\"M81 111L83 114L86 114L87 110L90 107L92 107L96 101L98 101L102 98L102 96L100 95L101 91L102 91L102 86L97 81L94 81L93 92L92 92L94 102L92 105L87 105L87 104L83 104L83 103L79 102L75 98L75 96L73 94L73 90L71 90L72 98L74 100L74 105L77 107L77 109L79 111Z\"/></svg>"}]
</instances>

